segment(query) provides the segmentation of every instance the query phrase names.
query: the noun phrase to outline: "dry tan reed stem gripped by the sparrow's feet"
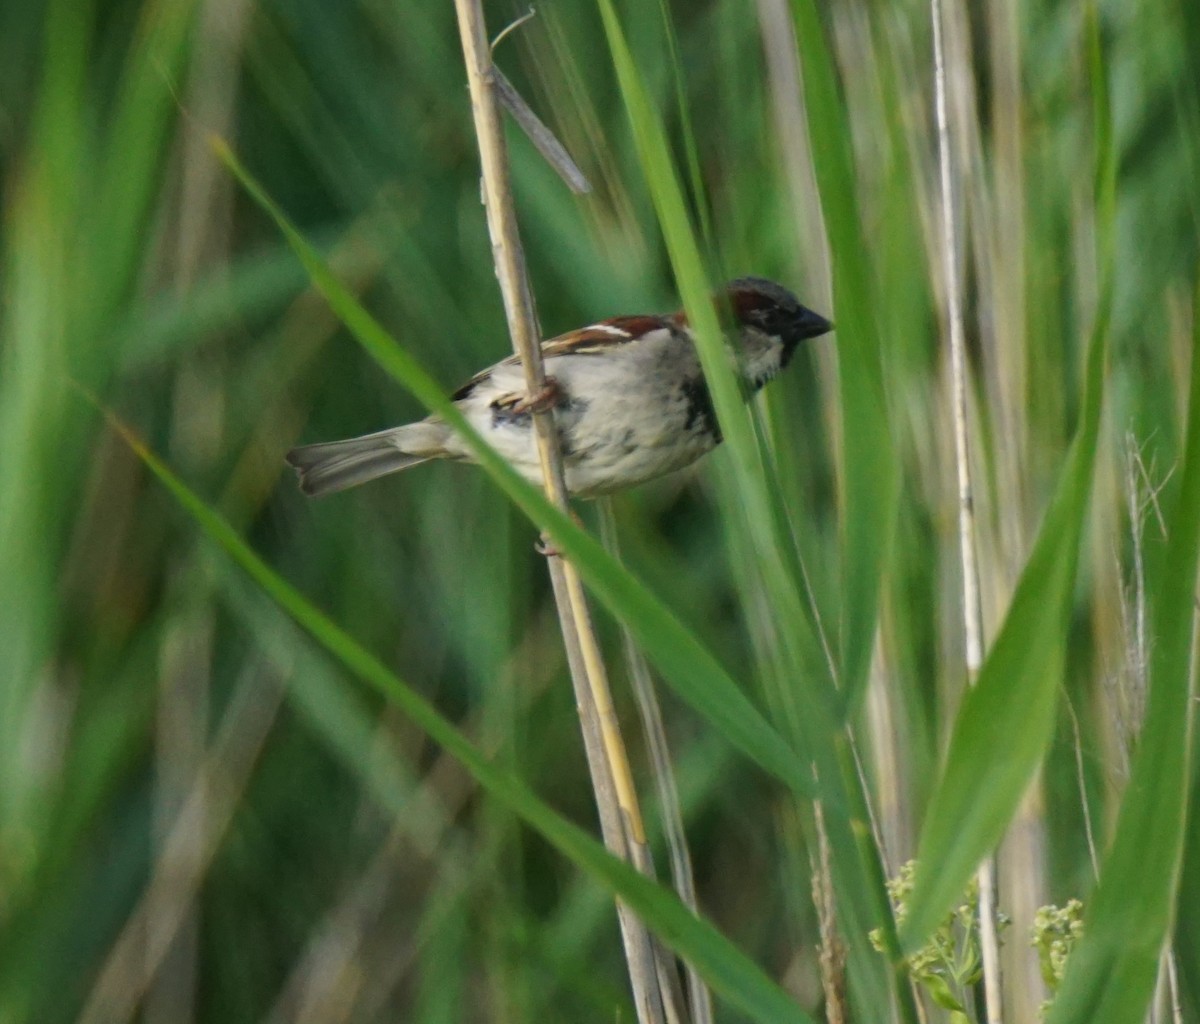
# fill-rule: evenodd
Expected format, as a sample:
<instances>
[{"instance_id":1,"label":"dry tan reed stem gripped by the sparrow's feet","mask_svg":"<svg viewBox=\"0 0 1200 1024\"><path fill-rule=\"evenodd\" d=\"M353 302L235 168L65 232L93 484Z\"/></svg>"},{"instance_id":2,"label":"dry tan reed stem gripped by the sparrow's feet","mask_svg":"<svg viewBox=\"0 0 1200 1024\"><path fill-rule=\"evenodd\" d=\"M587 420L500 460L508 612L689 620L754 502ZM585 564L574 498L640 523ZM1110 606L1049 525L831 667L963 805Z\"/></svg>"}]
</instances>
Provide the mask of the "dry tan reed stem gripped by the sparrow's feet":
<instances>
[{"instance_id":1,"label":"dry tan reed stem gripped by the sparrow's feet","mask_svg":"<svg viewBox=\"0 0 1200 1024\"><path fill-rule=\"evenodd\" d=\"M455 10L467 65L475 136L479 142L484 206L492 240L496 276L504 298L512 348L521 359L524 371L526 388L530 395L536 395L545 388L546 375L540 331L512 203L508 154L494 90L491 47L487 42L480 0L455 0ZM566 511L568 492L553 411L534 412L533 419L546 493L559 509ZM646 830L642 825L629 757L612 706L604 660L583 593L583 583L575 567L563 558L548 558L548 568L563 629L563 642L568 649L596 802L608 804L600 810L605 844L614 854L631 860L644 870L644 857L638 848L644 850ZM638 1020L642 1024L665 1022L649 933L628 909L623 908L620 900L618 911Z\"/></svg>"}]
</instances>

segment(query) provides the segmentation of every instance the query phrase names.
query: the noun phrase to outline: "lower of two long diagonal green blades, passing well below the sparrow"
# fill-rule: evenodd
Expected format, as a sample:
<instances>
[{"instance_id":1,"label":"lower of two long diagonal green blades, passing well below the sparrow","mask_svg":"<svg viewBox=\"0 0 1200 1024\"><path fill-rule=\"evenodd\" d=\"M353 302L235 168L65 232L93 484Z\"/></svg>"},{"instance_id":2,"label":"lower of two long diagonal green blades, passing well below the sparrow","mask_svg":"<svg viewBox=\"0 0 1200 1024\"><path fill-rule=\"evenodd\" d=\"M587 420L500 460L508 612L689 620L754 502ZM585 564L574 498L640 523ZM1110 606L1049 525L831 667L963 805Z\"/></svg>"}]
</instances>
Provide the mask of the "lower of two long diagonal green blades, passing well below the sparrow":
<instances>
[{"instance_id":1,"label":"lower of two long diagonal green blades, passing well below the sparrow","mask_svg":"<svg viewBox=\"0 0 1200 1024\"><path fill-rule=\"evenodd\" d=\"M695 965L714 992L764 1024L810 1019L755 963L712 924L695 917L673 893L613 857L600 843L539 800L521 779L498 767L425 697L388 671L373 654L272 571L127 427L116 420L110 423L204 533L313 639L355 676L386 696L462 763L488 794L520 815L578 868L619 894L664 941Z\"/></svg>"}]
</instances>

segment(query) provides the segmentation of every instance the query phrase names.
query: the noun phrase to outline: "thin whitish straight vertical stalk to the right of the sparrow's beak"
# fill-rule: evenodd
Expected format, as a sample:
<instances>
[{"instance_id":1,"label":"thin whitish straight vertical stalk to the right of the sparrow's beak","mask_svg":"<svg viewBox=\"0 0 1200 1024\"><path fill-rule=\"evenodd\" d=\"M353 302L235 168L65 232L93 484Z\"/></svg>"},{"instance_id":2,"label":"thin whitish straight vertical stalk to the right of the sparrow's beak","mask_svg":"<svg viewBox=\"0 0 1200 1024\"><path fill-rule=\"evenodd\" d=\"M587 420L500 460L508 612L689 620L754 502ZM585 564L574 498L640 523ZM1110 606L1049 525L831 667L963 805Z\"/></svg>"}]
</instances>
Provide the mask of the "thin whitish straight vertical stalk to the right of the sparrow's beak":
<instances>
[{"instance_id":1,"label":"thin whitish straight vertical stalk to the right of the sparrow's beak","mask_svg":"<svg viewBox=\"0 0 1200 1024\"><path fill-rule=\"evenodd\" d=\"M966 641L967 685L974 685L983 664L983 615L979 604L979 562L974 545L974 496L967 437L967 359L959 281L959 238L954 216L954 174L950 167L950 126L946 96L946 52L942 42L942 4L930 0L934 28L934 101L937 118L937 163L941 172L942 259L950 329L950 377L954 418L954 456L958 468L959 553L962 561L962 625ZM995 858L977 873L979 881L979 946L988 1024L1002 1024L1000 936L996 929Z\"/></svg>"}]
</instances>

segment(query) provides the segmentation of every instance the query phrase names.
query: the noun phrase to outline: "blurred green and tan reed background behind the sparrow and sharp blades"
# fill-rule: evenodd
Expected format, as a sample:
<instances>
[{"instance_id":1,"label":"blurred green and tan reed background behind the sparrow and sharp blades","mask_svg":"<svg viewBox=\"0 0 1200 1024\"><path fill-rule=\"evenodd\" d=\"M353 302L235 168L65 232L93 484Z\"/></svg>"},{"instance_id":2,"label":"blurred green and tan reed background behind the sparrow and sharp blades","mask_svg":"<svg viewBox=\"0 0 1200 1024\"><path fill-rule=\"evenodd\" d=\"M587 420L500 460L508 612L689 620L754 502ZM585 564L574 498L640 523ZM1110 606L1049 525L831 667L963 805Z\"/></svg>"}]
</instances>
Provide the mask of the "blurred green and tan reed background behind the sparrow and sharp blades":
<instances>
[{"instance_id":1,"label":"blurred green and tan reed background behind the sparrow and sharp blades","mask_svg":"<svg viewBox=\"0 0 1200 1024\"><path fill-rule=\"evenodd\" d=\"M950 8L989 636L1076 425L1102 287L1084 6ZM894 873L913 854L964 683L930 20L910 0L818 10L901 481L854 723ZM488 4L491 31L523 12ZM714 270L774 277L832 313L787 5L619 12ZM1016 1022L1043 998L1033 910L1086 899L1088 836L1103 850L1128 776L1153 643L1144 594L1171 570L1154 496L1176 483L1193 345L1200 13L1189 0L1111 2L1099 24L1117 156L1111 358L1058 733L1000 857ZM676 309L593 4L545 0L496 60L594 186L572 196L510 132L546 334ZM0 7L5 1024L634 1019L610 897L246 582L79 393L131 424L490 756L593 830L535 531L463 466L320 502L299 493L288 448L421 411L311 291L209 143L230 143L450 390L509 351L464 83L449 2ZM817 341L762 400L782 503L830 621L838 369ZM754 629L712 484L724 457L620 496L616 511L635 574L737 670L755 660ZM617 665L616 630L601 628ZM781 854L794 828L779 788L682 705L667 699L666 714L702 906L818 1012L810 881L794 870L808 861ZM1196 911L1181 897L1181 934ZM1187 947L1178 964L1189 1012L1195 957Z\"/></svg>"}]
</instances>

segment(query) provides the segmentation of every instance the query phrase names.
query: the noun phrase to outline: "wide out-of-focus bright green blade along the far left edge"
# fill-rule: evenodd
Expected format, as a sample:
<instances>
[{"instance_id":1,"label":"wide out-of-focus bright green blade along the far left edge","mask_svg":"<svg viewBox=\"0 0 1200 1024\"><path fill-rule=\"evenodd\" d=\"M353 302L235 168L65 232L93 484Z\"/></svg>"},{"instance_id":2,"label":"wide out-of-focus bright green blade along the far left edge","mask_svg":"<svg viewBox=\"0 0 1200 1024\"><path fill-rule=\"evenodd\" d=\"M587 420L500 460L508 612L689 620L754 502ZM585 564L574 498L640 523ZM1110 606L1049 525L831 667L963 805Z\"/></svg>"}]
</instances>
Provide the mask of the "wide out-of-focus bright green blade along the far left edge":
<instances>
[{"instance_id":1,"label":"wide out-of-focus bright green blade along the far left edge","mask_svg":"<svg viewBox=\"0 0 1200 1024\"><path fill-rule=\"evenodd\" d=\"M68 365L70 273L78 169L86 163L84 94L92 44L88 5L47 5L44 55L30 122L35 142L4 196L0 263L0 886L19 888L37 864L47 800L23 737L43 666L59 640L55 565L74 480ZM8 175L6 175L7 178ZM19 187L16 187L19 182ZM16 837L20 837L18 840Z\"/></svg>"}]
</instances>

